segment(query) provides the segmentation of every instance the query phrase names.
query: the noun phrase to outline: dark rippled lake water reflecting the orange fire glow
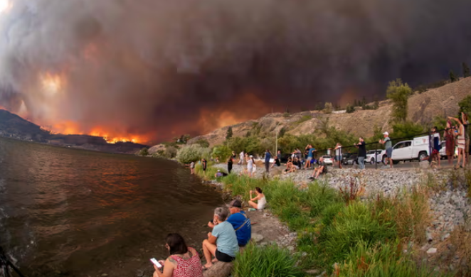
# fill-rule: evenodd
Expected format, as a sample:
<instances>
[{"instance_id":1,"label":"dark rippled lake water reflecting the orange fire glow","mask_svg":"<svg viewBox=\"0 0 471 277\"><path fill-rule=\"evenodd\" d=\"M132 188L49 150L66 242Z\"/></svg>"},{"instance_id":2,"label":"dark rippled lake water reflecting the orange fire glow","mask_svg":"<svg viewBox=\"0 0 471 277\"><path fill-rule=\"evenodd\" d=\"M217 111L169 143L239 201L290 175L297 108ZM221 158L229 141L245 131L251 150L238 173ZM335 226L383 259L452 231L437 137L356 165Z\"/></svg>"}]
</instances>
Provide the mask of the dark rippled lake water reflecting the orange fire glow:
<instances>
[{"instance_id":1,"label":"dark rippled lake water reflecting the orange fire glow","mask_svg":"<svg viewBox=\"0 0 471 277\"><path fill-rule=\"evenodd\" d=\"M172 161L0 138L0 246L28 276L137 276L169 232L200 249L221 204Z\"/></svg>"}]
</instances>

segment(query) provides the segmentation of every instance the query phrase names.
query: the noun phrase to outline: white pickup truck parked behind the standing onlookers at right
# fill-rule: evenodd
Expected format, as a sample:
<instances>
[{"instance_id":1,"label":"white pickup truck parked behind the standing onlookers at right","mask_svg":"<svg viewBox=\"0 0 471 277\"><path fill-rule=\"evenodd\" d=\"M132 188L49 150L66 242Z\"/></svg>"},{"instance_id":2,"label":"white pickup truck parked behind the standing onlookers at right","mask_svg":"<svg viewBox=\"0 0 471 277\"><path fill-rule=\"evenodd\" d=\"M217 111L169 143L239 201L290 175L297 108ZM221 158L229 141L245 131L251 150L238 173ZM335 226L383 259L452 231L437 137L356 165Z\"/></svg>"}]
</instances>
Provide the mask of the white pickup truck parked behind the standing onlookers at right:
<instances>
[{"instance_id":1,"label":"white pickup truck parked behind the standing onlookers at right","mask_svg":"<svg viewBox=\"0 0 471 277\"><path fill-rule=\"evenodd\" d=\"M430 155L428 136L420 136L411 141L400 141L393 146L393 163L400 161L421 161ZM382 161L386 158L386 151L381 152Z\"/></svg>"}]
</instances>

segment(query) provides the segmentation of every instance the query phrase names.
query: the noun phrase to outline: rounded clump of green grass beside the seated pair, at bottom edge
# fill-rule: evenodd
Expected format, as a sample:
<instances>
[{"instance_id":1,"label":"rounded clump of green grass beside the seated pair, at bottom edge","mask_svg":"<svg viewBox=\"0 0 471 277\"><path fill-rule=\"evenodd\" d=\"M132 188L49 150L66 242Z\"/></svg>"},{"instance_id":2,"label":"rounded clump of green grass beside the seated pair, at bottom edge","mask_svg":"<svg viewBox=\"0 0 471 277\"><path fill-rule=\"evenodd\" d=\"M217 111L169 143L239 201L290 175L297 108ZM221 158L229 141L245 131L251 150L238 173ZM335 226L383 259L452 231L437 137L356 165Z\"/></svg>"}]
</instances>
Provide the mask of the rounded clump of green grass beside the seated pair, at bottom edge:
<instances>
[{"instance_id":1,"label":"rounded clump of green grass beside the seated pair, at bottom edge","mask_svg":"<svg viewBox=\"0 0 471 277\"><path fill-rule=\"evenodd\" d=\"M301 277L305 273L295 266L297 255L276 245L257 247L248 244L234 261L234 277Z\"/></svg>"}]
</instances>

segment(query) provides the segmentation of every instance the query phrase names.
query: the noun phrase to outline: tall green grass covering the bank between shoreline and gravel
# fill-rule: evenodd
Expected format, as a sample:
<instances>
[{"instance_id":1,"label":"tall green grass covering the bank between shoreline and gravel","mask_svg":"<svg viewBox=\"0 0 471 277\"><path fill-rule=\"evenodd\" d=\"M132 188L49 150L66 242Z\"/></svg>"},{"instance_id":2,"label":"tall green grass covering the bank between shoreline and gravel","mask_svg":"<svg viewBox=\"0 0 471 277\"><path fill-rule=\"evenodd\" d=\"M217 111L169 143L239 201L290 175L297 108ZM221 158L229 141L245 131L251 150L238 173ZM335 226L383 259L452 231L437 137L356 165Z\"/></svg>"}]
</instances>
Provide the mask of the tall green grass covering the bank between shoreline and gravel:
<instances>
[{"instance_id":1,"label":"tall green grass covering the bank between shoreline and gravel","mask_svg":"<svg viewBox=\"0 0 471 277\"><path fill-rule=\"evenodd\" d=\"M297 251L305 253L297 257L300 268L322 268L334 276L434 276L401 251L403 241L420 242L425 237L428 196L420 187L397 197L379 195L346 203L326 183L310 183L301 191L291 181L277 178L231 174L221 181L226 191L243 200L249 200L249 191L255 187L263 189L272 213L298 234ZM250 246L236 261L234 276L282 276L276 275L280 268L270 268L276 266L277 258L282 268L289 267L291 259L283 251L275 246ZM334 264L340 266L334 268Z\"/></svg>"}]
</instances>

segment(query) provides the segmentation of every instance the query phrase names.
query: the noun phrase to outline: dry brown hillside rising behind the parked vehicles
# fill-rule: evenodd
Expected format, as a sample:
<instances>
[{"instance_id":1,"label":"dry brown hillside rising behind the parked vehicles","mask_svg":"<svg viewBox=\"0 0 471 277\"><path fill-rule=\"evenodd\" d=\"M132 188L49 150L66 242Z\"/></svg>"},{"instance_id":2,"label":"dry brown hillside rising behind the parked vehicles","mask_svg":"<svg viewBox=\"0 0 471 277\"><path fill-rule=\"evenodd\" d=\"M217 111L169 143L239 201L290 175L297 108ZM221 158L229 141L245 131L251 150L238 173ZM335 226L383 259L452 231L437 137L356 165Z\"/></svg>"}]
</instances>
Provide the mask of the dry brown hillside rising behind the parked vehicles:
<instances>
[{"instance_id":1,"label":"dry brown hillside rising behind the parked vehicles","mask_svg":"<svg viewBox=\"0 0 471 277\"><path fill-rule=\"evenodd\" d=\"M413 94L408 100L408 119L416 123L430 122L434 116L455 115L458 112L458 102L471 94L471 77L453 82L443 87L430 89L422 94ZM374 126L383 131L391 131L392 104L389 101L380 102L379 109L357 110L354 113L324 114L318 111L300 112L284 116L281 113L267 114L260 119L245 121L232 126L233 136L245 136L248 131L260 129L260 134L275 134L276 126L285 128L286 134L314 134L322 121L328 120L331 126L347 131L356 136L372 136ZM222 143L226 138L229 126L216 129L209 134L197 136L189 143L199 139L207 139L212 145Z\"/></svg>"}]
</instances>

